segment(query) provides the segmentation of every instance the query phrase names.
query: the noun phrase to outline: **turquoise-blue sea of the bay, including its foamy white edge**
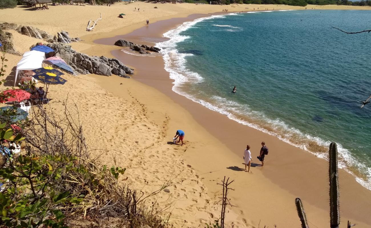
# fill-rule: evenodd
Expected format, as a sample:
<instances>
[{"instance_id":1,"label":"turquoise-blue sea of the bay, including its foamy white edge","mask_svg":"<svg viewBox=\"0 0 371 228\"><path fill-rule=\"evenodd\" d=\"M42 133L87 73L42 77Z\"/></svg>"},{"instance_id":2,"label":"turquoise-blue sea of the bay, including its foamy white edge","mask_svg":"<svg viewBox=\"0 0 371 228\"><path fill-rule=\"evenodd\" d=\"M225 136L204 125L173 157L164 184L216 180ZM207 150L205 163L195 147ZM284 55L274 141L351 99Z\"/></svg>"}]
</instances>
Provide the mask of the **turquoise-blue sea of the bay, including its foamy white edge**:
<instances>
[{"instance_id":1,"label":"turquoise-blue sea of the bay, including its foamy white edge","mask_svg":"<svg viewBox=\"0 0 371 228\"><path fill-rule=\"evenodd\" d=\"M158 43L173 90L339 164L371 190L371 11L288 10L186 22ZM237 93L231 93L237 86Z\"/></svg>"}]
</instances>

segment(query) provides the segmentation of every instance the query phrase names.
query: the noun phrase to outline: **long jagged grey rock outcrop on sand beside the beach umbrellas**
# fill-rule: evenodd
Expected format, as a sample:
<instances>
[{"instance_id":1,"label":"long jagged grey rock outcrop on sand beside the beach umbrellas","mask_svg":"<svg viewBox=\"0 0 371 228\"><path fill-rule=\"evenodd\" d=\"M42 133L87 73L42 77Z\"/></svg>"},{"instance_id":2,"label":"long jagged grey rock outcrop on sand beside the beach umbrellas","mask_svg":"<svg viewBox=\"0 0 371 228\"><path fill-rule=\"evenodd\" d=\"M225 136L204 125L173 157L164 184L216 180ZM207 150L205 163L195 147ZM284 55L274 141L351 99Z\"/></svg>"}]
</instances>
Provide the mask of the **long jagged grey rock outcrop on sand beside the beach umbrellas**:
<instances>
[{"instance_id":1,"label":"long jagged grey rock outcrop on sand beside the beach umbrellas","mask_svg":"<svg viewBox=\"0 0 371 228\"><path fill-rule=\"evenodd\" d=\"M71 46L63 43L49 43L47 46L55 50L56 56L61 57L80 74L92 73L104 76L114 74L130 78L128 74L132 75L134 73L133 69L125 66L117 59L104 56L88 56L87 54L76 52Z\"/></svg>"}]
</instances>

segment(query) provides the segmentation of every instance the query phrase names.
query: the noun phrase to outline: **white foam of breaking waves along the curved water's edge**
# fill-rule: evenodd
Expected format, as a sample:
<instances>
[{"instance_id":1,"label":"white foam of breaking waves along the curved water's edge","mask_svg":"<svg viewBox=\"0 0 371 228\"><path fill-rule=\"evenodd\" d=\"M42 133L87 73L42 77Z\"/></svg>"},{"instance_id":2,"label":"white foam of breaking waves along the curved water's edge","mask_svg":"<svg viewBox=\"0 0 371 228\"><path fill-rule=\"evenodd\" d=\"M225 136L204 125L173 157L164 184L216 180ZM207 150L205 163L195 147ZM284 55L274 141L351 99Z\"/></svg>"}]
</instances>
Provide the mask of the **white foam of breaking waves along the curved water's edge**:
<instances>
[{"instance_id":1,"label":"white foam of breaking waves along the curved water's edge","mask_svg":"<svg viewBox=\"0 0 371 228\"><path fill-rule=\"evenodd\" d=\"M275 10L275 11L291 11L291 10ZM264 11L261 11L261 12L264 12ZM265 12L273 12L273 11L265 11ZM231 14L229 14L229 15L231 15ZM177 27L173 30L170 30L170 31L163 34L164 37L168 37L168 38L170 38L170 40L156 44L157 47L160 47L162 49L161 53L163 53L163 59L164 59L164 63L165 63L164 68L167 72L169 72L170 78L174 80L174 82L173 82L174 86L173 86L172 90L174 92L182 95L182 96L185 96L186 98L188 98L188 99L190 99L194 102L200 103L201 105L205 106L206 108L209 108L211 110L214 110L216 112L219 112L219 113L222 113L222 114L226 115L229 119L232 119L232 120L234 120L238 123L241 123L243 125L247 125L251 128L260 130L262 132L268 133L269 135L276 136L281 141L289 143L290 145L296 146L296 147L301 148L305 151L311 152L306 147L306 145L293 143L293 142L289 141L289 139L287 137L285 137L287 135L281 136L277 132L281 132L281 130L284 129L285 132L291 132L291 134L300 135L301 137L306 138L308 140L311 140L312 142L313 141L316 142L320 146L328 147L328 145L330 144L329 141L325 141L325 140L323 140L319 137L313 137L313 136L308 135L308 134L303 134L298 129L295 129L295 128L292 128L292 127L288 126L282 120L269 119L263 113L259 113L259 112L256 112L256 111L254 112L252 110L249 110L249 112L251 114L253 114L253 116L259 116L267 124L270 124L270 126L274 126L273 129L277 130L277 132L269 131L269 130L266 130L266 129L260 127L257 124L243 121L240 118L237 118L237 116L236 116L236 113L237 114L239 113L238 110L236 110L236 107L237 106L241 107L241 104L233 103L233 101L226 100L225 98L221 98L221 97L215 97L215 96L213 97L213 99L217 102L210 103L210 102L207 102L205 100L198 99L195 96L192 96L192 95L190 95L190 94L181 90L181 86L184 83L200 83L204 79L198 73L191 72L190 70L188 70L186 68L185 63L187 62L187 57L188 56L193 56L193 54L179 53L178 52L177 43L182 42L182 41L190 38L188 36L182 36L182 35L180 35L180 33L189 29L189 28L191 28L191 27L193 27L195 24L197 24L199 22L202 22L204 20L219 19L219 18L225 18L225 16L214 15L214 16L210 16L210 17L199 18L199 19L193 20L191 22L184 22L179 27ZM211 99L211 100L213 100L213 99ZM217 106L216 104L219 104L219 105ZM241 112L241 114L246 113L246 111L249 109L248 106L245 106L244 108L245 109L243 110L243 112ZM338 143L338 152L339 152L339 155L341 157L341 159L339 160L339 168L344 169L345 171L349 172L350 174L352 174L354 176L355 176L355 174L351 170L348 169L349 166L354 166L354 167L357 167L360 170L363 170L364 171L363 173L366 173L366 175L367 175L366 180L364 180L362 178L359 178L357 176L355 176L355 179L359 184L361 184L365 188L371 190L371 168L367 167L365 164L363 164L361 162L357 162L357 159L355 159L351 155L350 151L343 148L342 145L339 144L339 143ZM319 153L319 152L311 152L311 153L316 155L319 158L323 158L323 159L327 160L326 153Z\"/></svg>"}]
</instances>

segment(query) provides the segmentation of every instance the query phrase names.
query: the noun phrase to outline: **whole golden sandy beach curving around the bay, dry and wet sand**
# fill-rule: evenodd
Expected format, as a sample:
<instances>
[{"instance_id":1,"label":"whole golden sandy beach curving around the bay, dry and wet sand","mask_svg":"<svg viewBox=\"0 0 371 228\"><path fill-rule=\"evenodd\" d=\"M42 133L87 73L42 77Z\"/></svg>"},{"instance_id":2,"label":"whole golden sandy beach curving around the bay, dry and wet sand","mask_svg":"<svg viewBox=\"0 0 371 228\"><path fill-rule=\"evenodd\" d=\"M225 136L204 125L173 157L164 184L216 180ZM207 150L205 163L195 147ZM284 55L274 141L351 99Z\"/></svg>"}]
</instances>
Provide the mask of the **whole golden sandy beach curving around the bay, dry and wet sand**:
<instances>
[{"instance_id":1,"label":"whole golden sandy beach curving around the bay, dry and wet sand","mask_svg":"<svg viewBox=\"0 0 371 228\"><path fill-rule=\"evenodd\" d=\"M157 6L158 9L154 9ZM139 8L140 11L134 11ZM159 189L170 180L170 193L160 192L148 201L155 203L174 227L204 227L220 217L217 205L224 176L234 179L227 223L234 227L300 227L294 200L300 197L311 227L329 224L328 163L274 136L241 125L211 111L171 90L172 81L164 70L161 56L134 56L113 46L118 39L152 44L162 34L179 24L222 9L246 11L263 7L304 9L284 5L229 6L195 4L152 4L135 2L108 6L50 6L32 11L23 7L0 10L0 22L38 27L51 34L61 30L83 41L72 43L82 53L116 57L135 69L132 79L118 76L65 75L65 85L50 86L50 110L62 115L63 106L56 101L68 99L71 109L77 106L79 120L92 155L104 163L128 168L126 184L145 194ZM308 9L362 9L371 7L306 6ZM249 8L249 9L246 9ZM142 11L143 10L143 11ZM92 32L86 32L89 19L103 19ZM125 13L124 19L117 17ZM143 27L145 20L151 26ZM15 48L24 53L36 42L16 31ZM7 54L6 75L11 85L14 69L22 56ZM145 65L143 64L145 63ZM11 71L13 70L13 71ZM14 83L14 81L13 81ZM216 124L217 123L217 124ZM171 143L177 129L186 133L185 145ZM260 142L270 149L266 166L256 156ZM252 147L252 174L244 172L243 150ZM370 227L371 191L355 181L354 176L339 171L342 226L347 220L357 227ZM260 225L259 225L260 223Z\"/></svg>"}]
</instances>

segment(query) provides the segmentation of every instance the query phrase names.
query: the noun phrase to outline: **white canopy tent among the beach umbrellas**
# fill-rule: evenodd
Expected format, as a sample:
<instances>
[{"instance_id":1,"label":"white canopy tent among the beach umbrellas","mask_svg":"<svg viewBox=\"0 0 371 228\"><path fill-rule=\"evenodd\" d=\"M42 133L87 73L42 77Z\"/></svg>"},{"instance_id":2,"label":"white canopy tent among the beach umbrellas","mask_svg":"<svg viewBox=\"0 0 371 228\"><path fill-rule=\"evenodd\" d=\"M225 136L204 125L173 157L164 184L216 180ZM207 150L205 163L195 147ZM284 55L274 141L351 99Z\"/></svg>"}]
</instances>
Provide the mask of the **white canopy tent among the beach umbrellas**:
<instances>
[{"instance_id":1,"label":"white canopy tent among the beach umbrellas","mask_svg":"<svg viewBox=\"0 0 371 228\"><path fill-rule=\"evenodd\" d=\"M39 51L29 51L23 54L22 59L17 64L16 78L14 79L14 86L16 86L17 76L20 70L35 70L43 66L45 53Z\"/></svg>"}]
</instances>

